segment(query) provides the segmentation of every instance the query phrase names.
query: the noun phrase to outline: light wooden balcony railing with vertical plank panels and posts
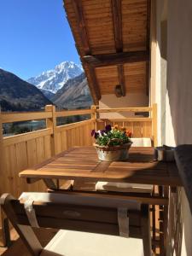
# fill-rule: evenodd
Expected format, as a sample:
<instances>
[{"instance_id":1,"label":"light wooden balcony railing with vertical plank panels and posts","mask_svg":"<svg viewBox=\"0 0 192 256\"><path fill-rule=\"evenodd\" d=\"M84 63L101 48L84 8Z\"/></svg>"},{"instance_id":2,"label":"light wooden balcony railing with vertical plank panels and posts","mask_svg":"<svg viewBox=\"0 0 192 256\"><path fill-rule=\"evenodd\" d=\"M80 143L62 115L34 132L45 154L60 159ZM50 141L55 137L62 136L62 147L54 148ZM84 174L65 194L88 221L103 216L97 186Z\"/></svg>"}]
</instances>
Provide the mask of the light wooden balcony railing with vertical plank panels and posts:
<instances>
[{"instance_id":1,"label":"light wooden balcony railing with vertical plank panels and posts","mask_svg":"<svg viewBox=\"0 0 192 256\"><path fill-rule=\"evenodd\" d=\"M131 116L124 119L100 119L100 113L131 112L146 113L148 117ZM56 119L73 115L90 114L90 119L69 125L56 125ZM98 117L98 118L97 118ZM26 184L18 177L23 169L34 166L49 157L71 148L75 145L89 146L93 143L90 137L92 129L103 129L107 124L126 126L133 133L133 137L154 137L157 140L156 105L152 108L113 108L55 111L55 106L46 106L44 112L33 113L1 113L0 131L3 123L12 123L34 119L46 119L46 127L43 130L32 131L3 137L0 132L0 193L9 192L19 196L22 191L42 191L44 184Z\"/></svg>"}]
</instances>

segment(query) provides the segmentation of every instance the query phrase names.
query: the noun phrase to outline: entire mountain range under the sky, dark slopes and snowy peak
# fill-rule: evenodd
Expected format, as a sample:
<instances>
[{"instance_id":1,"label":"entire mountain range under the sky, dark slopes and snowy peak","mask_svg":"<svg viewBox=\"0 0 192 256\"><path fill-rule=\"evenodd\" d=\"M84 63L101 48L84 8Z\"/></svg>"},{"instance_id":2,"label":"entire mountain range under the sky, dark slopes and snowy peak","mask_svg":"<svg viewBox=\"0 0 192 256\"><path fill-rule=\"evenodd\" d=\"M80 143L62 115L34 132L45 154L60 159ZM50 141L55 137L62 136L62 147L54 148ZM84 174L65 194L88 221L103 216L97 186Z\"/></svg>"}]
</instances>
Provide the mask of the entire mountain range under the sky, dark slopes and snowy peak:
<instances>
[{"instance_id":1,"label":"entire mountain range under the sky, dark slopes and snowy peak","mask_svg":"<svg viewBox=\"0 0 192 256\"><path fill-rule=\"evenodd\" d=\"M90 90L80 65L64 61L27 82L0 69L2 111L40 110L46 104L55 104L58 108L90 107Z\"/></svg>"}]
</instances>

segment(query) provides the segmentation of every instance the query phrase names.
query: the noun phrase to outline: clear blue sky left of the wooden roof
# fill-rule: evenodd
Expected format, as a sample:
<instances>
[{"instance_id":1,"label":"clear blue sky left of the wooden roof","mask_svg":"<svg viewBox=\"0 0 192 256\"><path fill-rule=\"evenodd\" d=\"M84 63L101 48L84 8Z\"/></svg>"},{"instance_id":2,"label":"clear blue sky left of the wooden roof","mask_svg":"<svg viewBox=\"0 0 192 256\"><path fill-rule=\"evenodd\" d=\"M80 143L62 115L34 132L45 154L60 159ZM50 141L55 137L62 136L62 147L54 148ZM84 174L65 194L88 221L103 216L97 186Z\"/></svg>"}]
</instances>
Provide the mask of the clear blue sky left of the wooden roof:
<instances>
[{"instance_id":1,"label":"clear blue sky left of the wooden roof","mask_svg":"<svg viewBox=\"0 0 192 256\"><path fill-rule=\"evenodd\" d=\"M80 63L62 0L0 0L0 67L29 79Z\"/></svg>"}]
</instances>

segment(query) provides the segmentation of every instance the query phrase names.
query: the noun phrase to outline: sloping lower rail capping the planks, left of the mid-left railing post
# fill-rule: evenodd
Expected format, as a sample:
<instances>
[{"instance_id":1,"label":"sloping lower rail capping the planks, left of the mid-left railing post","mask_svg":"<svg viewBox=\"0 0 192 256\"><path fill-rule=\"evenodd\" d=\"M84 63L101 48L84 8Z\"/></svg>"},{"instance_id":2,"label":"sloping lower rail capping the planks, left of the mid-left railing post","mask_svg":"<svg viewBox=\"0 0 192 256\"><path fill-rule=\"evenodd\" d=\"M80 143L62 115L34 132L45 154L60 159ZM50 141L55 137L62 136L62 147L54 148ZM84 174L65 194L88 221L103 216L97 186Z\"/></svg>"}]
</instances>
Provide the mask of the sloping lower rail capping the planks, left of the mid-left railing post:
<instances>
[{"instance_id":1,"label":"sloping lower rail capping the planks, left of the mid-left railing post","mask_svg":"<svg viewBox=\"0 0 192 256\"><path fill-rule=\"evenodd\" d=\"M44 137L53 134L53 129L47 128L39 131L26 132L25 134L14 135L3 138L3 146L10 146L16 143L26 142L38 137Z\"/></svg>"}]
</instances>

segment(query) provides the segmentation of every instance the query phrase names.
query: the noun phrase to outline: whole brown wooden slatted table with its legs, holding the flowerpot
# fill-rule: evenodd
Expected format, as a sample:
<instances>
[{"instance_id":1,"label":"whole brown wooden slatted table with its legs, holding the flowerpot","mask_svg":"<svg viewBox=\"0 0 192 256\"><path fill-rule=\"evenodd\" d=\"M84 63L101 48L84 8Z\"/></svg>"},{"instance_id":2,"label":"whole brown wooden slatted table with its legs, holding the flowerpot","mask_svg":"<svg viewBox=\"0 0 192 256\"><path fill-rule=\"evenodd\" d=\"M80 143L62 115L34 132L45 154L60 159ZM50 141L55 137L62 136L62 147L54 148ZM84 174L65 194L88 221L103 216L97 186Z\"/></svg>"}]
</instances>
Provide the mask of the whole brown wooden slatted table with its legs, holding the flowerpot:
<instances>
[{"instance_id":1,"label":"whole brown wooden slatted table with its legs, holding the flowerpot","mask_svg":"<svg viewBox=\"0 0 192 256\"><path fill-rule=\"evenodd\" d=\"M160 222L161 253L164 255L166 245L166 229L168 214L168 188L182 186L174 162L154 161L154 148L131 148L129 159L126 161L105 162L98 160L96 149L93 147L74 147L57 154L55 157L20 172L20 177L26 178L27 183L40 179L49 189L56 190L54 179L84 180L87 182L110 181L122 183L146 183L158 185L158 195L143 195L141 193L113 193L108 196L126 197L149 205L159 205L163 222ZM88 193L83 191L65 191L65 193ZM98 191L96 196L105 196ZM153 229L155 238L155 225ZM164 234L164 235L163 235Z\"/></svg>"}]
</instances>

